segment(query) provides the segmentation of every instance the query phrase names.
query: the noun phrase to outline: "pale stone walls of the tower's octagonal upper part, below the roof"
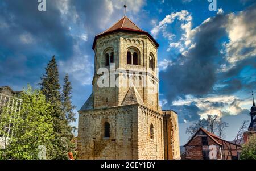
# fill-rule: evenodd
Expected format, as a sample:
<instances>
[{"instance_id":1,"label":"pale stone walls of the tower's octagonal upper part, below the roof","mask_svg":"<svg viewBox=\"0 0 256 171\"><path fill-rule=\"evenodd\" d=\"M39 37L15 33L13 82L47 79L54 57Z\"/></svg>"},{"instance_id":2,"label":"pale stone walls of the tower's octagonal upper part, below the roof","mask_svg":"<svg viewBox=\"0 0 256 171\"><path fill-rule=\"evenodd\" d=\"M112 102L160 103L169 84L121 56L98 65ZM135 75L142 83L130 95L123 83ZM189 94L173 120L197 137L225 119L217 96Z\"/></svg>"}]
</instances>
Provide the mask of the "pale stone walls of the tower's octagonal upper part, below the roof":
<instances>
[{"instance_id":1,"label":"pale stone walls of the tower's octagonal upper part, below the roof","mask_svg":"<svg viewBox=\"0 0 256 171\"><path fill-rule=\"evenodd\" d=\"M135 48L138 50L139 55L139 65L127 65L127 51L129 48ZM108 68L110 73L110 66L105 66L105 52L114 52L114 63L115 69L121 71L133 71L134 73L119 73L115 75L114 79L119 79L117 82L121 84L121 78L123 81L128 82L128 79L141 79L140 74L147 74L144 78L147 87L136 86L139 95L143 99L144 104L152 110L159 110L159 99L158 99L158 89L159 80L156 70L152 71L149 68L149 56L152 54L155 58L155 65L157 66L157 48L154 43L143 34L128 34L128 33L117 33L113 35L102 36L97 39L96 49L95 49L95 74L93 79L93 92L94 92L94 107L105 107L105 106L118 106L121 105L123 98L125 97L129 86L126 87L115 87L99 89L97 87L97 80L100 75L97 74L99 68ZM134 74L136 75L134 77ZM125 77L122 77L125 75ZM109 79L110 81L110 79ZM141 84L141 83L140 83ZM110 85L110 84L109 84ZM108 101L106 98L108 98Z\"/></svg>"}]
</instances>

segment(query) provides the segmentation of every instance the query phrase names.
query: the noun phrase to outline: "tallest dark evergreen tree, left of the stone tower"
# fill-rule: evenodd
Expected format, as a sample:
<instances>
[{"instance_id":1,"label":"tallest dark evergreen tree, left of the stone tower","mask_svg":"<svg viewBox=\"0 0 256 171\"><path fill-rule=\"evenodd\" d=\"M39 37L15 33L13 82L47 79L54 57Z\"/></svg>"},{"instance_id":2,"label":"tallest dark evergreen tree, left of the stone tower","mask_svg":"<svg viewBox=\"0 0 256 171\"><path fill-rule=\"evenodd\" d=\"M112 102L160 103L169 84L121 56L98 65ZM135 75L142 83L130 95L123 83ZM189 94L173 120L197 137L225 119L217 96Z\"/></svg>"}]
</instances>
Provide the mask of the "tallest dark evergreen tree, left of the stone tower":
<instances>
[{"instance_id":1,"label":"tallest dark evergreen tree, left of the stone tower","mask_svg":"<svg viewBox=\"0 0 256 171\"><path fill-rule=\"evenodd\" d=\"M65 118L65 112L61 105L61 94L59 84L59 71L55 56L47 64L46 73L41 78L42 93L46 100L52 105L53 131L55 139L51 147L51 159L67 159L68 152L72 151L74 144L72 127Z\"/></svg>"}]
</instances>

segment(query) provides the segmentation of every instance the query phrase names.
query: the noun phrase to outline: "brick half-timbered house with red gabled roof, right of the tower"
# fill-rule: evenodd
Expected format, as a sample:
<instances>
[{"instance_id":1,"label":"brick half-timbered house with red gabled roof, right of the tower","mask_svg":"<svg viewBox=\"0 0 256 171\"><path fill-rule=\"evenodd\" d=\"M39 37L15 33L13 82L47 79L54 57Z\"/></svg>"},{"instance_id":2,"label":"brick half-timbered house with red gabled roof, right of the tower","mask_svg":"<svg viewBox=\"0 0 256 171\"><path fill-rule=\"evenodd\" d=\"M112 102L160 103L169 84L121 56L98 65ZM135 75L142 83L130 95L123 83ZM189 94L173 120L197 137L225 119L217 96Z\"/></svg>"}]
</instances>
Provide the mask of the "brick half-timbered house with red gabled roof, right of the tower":
<instances>
[{"instance_id":1,"label":"brick half-timbered house with red gabled roof, right of the tower","mask_svg":"<svg viewBox=\"0 0 256 171\"><path fill-rule=\"evenodd\" d=\"M217 160L237 160L240 157L241 145L221 139L203 128L199 128L196 134L184 145L186 153L181 156L187 160L209 160L209 153L210 151L213 152L211 145L216 147L215 159Z\"/></svg>"}]
</instances>

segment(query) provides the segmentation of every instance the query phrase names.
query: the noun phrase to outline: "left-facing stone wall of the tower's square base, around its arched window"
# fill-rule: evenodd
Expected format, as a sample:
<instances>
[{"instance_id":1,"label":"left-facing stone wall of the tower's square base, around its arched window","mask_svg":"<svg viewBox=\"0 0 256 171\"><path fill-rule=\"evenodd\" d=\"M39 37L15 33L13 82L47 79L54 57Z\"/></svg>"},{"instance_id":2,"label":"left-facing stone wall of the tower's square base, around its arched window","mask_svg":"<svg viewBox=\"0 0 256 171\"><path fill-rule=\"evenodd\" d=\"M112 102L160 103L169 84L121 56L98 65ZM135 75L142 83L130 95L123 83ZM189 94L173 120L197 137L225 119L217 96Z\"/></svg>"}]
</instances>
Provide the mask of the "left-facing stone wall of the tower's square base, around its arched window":
<instances>
[{"instance_id":1,"label":"left-facing stone wall of the tower's square base, around its arched window","mask_svg":"<svg viewBox=\"0 0 256 171\"><path fill-rule=\"evenodd\" d=\"M90 110L79 115L79 159L138 159L138 107L119 106ZM104 124L110 137L104 137Z\"/></svg>"}]
</instances>

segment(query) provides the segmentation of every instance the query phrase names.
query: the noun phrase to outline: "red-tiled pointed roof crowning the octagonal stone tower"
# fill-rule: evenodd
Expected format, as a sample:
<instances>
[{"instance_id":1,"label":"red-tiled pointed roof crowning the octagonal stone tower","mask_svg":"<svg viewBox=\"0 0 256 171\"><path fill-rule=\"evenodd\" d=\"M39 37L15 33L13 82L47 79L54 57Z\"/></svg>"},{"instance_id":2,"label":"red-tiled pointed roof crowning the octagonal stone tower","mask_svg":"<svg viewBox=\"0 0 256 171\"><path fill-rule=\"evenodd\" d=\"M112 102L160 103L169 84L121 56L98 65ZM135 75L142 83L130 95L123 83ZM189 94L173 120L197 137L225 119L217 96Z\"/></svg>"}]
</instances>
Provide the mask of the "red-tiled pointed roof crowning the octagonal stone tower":
<instances>
[{"instance_id":1,"label":"red-tiled pointed roof crowning the octagonal stone tower","mask_svg":"<svg viewBox=\"0 0 256 171\"><path fill-rule=\"evenodd\" d=\"M136 24L134 24L127 16L123 16L120 20L118 20L117 23L113 24L108 30L102 32L101 34L98 34L95 36L94 42L93 42L93 49L95 48L96 45L96 40L98 37L112 34L114 32L118 31L124 31L124 32L137 32L141 34L146 34L150 39L155 43L157 47L159 47L159 44L156 42L156 40L146 31L141 30Z\"/></svg>"}]
</instances>

